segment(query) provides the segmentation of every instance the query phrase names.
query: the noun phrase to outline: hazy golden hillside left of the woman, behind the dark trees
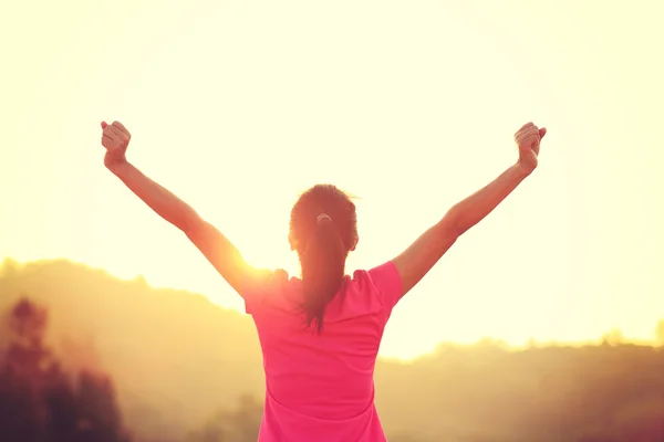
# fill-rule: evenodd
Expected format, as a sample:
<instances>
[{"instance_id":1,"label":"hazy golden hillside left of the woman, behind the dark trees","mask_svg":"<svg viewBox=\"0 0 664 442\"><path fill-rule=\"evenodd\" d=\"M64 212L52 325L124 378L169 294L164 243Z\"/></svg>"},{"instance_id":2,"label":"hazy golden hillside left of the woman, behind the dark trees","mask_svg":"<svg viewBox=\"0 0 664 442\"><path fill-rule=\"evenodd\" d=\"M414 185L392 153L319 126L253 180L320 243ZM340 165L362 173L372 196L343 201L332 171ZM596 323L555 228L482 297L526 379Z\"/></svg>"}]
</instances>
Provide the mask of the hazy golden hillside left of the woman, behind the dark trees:
<instances>
[{"instance_id":1,"label":"hazy golden hillside left of the woman, behind the dark trees","mask_svg":"<svg viewBox=\"0 0 664 442\"><path fill-rule=\"evenodd\" d=\"M262 398L256 332L236 311L66 261L6 263L1 275L0 311L23 294L48 307L53 347L70 364L113 373L129 425L172 433L241 394Z\"/></svg>"}]
</instances>

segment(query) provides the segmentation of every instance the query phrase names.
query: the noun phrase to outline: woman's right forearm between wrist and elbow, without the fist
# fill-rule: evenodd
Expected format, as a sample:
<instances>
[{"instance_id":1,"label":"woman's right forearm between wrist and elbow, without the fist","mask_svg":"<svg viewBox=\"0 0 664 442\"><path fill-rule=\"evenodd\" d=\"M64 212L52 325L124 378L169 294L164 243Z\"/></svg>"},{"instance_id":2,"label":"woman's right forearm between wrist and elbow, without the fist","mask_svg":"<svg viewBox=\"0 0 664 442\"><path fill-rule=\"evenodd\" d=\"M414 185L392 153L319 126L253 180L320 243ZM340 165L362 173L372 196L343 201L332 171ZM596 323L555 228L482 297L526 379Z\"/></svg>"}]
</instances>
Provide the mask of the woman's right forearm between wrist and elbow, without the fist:
<instances>
[{"instance_id":1,"label":"woman's right forearm between wrist and elbow, without the fist","mask_svg":"<svg viewBox=\"0 0 664 442\"><path fill-rule=\"evenodd\" d=\"M448 212L457 234L485 219L528 177L519 165L511 166L485 188L456 203ZM446 217L447 218L447 217Z\"/></svg>"}]
</instances>

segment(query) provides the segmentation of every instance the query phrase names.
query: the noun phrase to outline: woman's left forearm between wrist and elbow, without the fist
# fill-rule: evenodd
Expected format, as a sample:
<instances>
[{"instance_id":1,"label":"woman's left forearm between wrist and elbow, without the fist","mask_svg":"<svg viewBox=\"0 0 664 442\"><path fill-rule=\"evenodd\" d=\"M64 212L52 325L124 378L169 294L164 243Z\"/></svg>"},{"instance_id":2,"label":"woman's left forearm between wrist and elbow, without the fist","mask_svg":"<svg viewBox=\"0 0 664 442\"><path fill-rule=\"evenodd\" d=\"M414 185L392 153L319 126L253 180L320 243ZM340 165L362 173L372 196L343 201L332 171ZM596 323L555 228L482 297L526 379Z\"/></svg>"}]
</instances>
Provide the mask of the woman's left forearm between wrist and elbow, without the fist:
<instances>
[{"instance_id":1,"label":"woman's left forearm between wrist and elbow, without the fist","mask_svg":"<svg viewBox=\"0 0 664 442\"><path fill-rule=\"evenodd\" d=\"M129 162L123 162L110 170L159 217L185 233L198 219L198 214L191 207L147 178Z\"/></svg>"}]
</instances>

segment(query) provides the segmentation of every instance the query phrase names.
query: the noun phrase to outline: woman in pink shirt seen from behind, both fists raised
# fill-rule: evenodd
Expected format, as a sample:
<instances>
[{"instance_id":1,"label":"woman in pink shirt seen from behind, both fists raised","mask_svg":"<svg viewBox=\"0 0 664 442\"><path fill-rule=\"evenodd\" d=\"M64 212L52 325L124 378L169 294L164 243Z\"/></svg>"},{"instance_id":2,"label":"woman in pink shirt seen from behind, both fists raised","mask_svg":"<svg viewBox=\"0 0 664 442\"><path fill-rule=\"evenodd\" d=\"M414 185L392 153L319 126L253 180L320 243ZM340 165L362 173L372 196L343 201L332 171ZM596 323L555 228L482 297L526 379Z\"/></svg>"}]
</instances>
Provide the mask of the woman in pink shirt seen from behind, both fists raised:
<instances>
[{"instance_id":1,"label":"woman in pink shirt seen from behind, both fists raised","mask_svg":"<svg viewBox=\"0 0 664 442\"><path fill-rule=\"evenodd\" d=\"M547 133L532 123L521 127L513 166L455 204L401 255L352 277L344 266L357 245L355 206L334 186L314 186L291 211L289 242L302 270L298 278L247 264L214 225L126 160L131 135L122 124L102 123L102 129L108 170L181 230L245 299L266 372L260 442L385 441L373 372L392 309L459 235L535 170Z\"/></svg>"}]
</instances>

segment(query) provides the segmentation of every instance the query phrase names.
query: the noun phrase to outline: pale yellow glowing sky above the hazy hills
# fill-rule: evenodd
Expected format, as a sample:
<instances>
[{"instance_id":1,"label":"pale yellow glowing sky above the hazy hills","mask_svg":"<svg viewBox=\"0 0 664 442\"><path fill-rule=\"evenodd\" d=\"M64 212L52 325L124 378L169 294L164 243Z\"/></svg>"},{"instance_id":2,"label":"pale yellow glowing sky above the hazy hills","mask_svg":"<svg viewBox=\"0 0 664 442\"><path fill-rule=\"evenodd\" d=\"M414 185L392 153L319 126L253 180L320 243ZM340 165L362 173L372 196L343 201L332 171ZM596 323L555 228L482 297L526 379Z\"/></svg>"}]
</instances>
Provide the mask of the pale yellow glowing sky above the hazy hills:
<instances>
[{"instance_id":1,"label":"pale yellow glowing sky above the hazy hills","mask_svg":"<svg viewBox=\"0 0 664 442\"><path fill-rule=\"evenodd\" d=\"M66 257L242 302L103 167L128 158L255 265L298 272L298 194L359 197L347 271L398 254L516 161L540 166L395 309L381 354L580 341L664 318L664 3L282 0L2 6L0 257Z\"/></svg>"}]
</instances>

